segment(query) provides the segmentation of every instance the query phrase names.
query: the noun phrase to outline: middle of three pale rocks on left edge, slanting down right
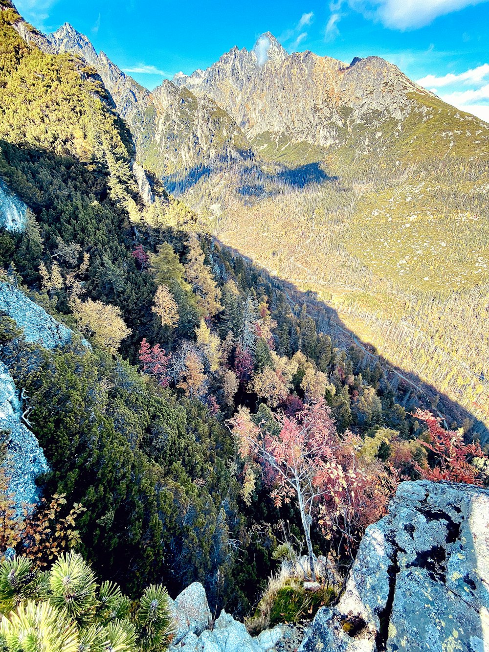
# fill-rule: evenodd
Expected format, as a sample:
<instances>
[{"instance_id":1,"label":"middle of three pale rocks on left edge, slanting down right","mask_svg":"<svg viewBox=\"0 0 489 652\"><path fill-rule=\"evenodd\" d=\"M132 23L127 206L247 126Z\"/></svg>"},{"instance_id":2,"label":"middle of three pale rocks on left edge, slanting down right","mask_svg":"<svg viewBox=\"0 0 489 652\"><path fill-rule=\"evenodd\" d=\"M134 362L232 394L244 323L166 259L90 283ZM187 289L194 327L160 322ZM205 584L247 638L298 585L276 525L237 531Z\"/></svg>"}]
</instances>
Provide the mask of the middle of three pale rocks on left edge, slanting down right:
<instances>
[{"instance_id":1,"label":"middle of three pale rocks on left edge, slanting down right","mask_svg":"<svg viewBox=\"0 0 489 652\"><path fill-rule=\"evenodd\" d=\"M27 342L36 342L46 349L70 344L73 331L56 321L46 310L28 299L18 288L0 282L0 310L15 321ZM85 346L88 342L83 340Z\"/></svg>"}]
</instances>

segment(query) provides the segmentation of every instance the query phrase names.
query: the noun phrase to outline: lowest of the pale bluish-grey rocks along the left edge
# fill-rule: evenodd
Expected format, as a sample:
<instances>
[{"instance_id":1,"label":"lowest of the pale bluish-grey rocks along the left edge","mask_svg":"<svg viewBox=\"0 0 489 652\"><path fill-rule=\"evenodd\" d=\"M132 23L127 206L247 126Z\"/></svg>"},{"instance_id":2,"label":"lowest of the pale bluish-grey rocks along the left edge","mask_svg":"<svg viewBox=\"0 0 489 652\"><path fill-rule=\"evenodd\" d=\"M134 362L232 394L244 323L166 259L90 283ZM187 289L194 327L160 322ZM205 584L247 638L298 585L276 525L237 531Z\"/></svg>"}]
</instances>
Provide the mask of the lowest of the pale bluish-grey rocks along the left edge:
<instances>
[{"instance_id":1,"label":"lowest of the pale bluish-grey rocks along the left edge","mask_svg":"<svg viewBox=\"0 0 489 652\"><path fill-rule=\"evenodd\" d=\"M9 477L8 490L14 496L17 509L22 513L23 503L32 505L38 500L36 478L49 471L48 462L36 437L22 422L22 402L14 380L0 362L0 430L7 444L3 466Z\"/></svg>"}]
</instances>

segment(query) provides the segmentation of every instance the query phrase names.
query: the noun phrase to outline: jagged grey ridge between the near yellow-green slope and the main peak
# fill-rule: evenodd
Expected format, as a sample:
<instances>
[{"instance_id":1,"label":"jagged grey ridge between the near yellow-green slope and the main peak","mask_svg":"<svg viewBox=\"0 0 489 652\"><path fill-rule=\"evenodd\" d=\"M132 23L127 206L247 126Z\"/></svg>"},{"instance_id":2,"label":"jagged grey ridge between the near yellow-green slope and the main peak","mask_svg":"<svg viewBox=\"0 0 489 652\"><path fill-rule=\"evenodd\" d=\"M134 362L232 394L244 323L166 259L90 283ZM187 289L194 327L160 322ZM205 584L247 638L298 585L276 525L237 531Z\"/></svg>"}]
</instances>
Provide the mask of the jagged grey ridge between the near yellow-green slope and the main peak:
<instances>
[{"instance_id":1,"label":"jagged grey ridge between the near yellow-green slope and the main peak","mask_svg":"<svg viewBox=\"0 0 489 652\"><path fill-rule=\"evenodd\" d=\"M193 170L215 159L251 154L243 132L211 99L197 98L168 80L150 93L104 52L97 54L69 23L48 35L48 41L53 52L74 53L96 69L130 127L138 160L147 170L168 177L177 169Z\"/></svg>"}]
</instances>

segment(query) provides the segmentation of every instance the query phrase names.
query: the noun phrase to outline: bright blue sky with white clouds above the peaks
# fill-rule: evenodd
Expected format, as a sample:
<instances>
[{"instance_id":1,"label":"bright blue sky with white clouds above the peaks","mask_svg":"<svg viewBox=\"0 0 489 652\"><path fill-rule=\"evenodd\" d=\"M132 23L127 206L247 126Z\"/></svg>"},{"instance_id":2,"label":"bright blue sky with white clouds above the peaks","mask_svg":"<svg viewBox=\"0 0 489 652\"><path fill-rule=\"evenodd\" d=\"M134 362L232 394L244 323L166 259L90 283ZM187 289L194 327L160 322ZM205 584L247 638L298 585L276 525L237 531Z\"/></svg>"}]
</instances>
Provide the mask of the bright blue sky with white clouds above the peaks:
<instances>
[{"instance_id":1,"label":"bright blue sky with white clouds above the peaks","mask_svg":"<svg viewBox=\"0 0 489 652\"><path fill-rule=\"evenodd\" d=\"M351 61L376 54L489 121L489 0L14 0L42 31L63 22L138 82L207 68L271 31L289 51Z\"/></svg>"}]
</instances>

